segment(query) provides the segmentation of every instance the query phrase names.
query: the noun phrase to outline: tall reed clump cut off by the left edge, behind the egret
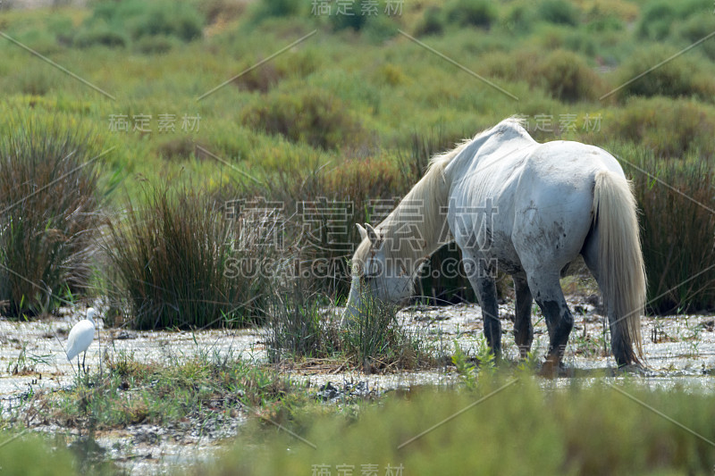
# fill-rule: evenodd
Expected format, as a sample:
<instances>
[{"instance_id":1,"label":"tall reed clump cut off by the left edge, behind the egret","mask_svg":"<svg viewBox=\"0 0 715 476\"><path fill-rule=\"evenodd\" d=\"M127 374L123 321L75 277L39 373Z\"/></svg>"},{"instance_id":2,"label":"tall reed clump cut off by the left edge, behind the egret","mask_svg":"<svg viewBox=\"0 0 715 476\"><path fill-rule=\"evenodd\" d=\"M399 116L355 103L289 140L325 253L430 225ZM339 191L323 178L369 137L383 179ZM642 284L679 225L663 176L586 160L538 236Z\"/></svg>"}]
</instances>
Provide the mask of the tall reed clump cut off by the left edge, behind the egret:
<instances>
[{"instance_id":1,"label":"tall reed clump cut off by the left edge, behind the egret","mask_svg":"<svg viewBox=\"0 0 715 476\"><path fill-rule=\"evenodd\" d=\"M84 294L100 222L97 151L54 121L11 121L0 138L0 313L53 311Z\"/></svg>"}]
</instances>

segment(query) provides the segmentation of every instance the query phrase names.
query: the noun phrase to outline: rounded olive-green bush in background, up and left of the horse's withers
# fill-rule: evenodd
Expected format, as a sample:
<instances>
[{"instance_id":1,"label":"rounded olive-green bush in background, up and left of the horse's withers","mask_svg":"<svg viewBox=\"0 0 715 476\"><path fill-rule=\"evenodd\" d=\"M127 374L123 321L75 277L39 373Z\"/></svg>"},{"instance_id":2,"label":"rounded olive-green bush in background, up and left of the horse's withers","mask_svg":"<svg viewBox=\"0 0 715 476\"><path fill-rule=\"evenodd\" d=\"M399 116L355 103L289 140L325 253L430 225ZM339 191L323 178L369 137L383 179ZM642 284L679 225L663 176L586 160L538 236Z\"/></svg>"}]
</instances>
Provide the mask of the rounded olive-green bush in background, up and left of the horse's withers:
<instances>
[{"instance_id":1,"label":"rounded olive-green bush in background, up and left of the horse's withers","mask_svg":"<svg viewBox=\"0 0 715 476\"><path fill-rule=\"evenodd\" d=\"M366 132L346 104L327 91L314 89L262 97L244 109L244 125L292 142L341 149L366 140Z\"/></svg>"}]
</instances>

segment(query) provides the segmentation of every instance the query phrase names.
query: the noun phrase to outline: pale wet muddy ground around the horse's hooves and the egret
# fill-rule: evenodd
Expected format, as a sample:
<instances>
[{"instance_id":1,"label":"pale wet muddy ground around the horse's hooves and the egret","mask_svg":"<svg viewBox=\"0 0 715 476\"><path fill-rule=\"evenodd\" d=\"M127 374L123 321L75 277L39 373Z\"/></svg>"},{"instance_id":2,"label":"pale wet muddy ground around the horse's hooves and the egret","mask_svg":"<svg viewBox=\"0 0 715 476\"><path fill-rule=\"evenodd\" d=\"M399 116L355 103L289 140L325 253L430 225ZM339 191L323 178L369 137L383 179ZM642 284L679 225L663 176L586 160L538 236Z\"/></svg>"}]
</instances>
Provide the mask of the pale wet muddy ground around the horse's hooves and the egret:
<instances>
[{"instance_id":1,"label":"pale wet muddy ground around the horse's hooves and the egret","mask_svg":"<svg viewBox=\"0 0 715 476\"><path fill-rule=\"evenodd\" d=\"M575 327L564 359L575 378L621 378L614 374L615 362L608 355L603 319L597 313L595 296L572 296L568 299L575 315ZM504 353L517 361L517 347L512 334L513 303L500 305L504 330ZM410 330L418 332L435 352L450 355L456 340L469 355L474 355L482 336L481 311L476 305L416 307L400 313ZM63 347L67 333L80 314L65 310L60 318L38 322L0 321L0 401L3 413L12 413L19 398L38 389L52 390L72 385L77 373L67 362ZM543 355L548 337L538 308L534 306L534 351ZM715 318L711 315L679 315L645 318L643 322L644 353L649 372L635 377L652 388L680 385L689 391L712 391L715 388ZM99 355L133 353L139 361L175 363L198 353L240 355L256 363L265 363L263 330L204 330L197 332L105 329L98 324L98 337L87 355L92 372L99 369ZM341 405L349 396L381 396L385 392L416 385L450 386L458 380L454 368L419 372L391 372L366 375L345 372L334 364L320 362L300 368L284 367L291 378L310 381L316 395L326 402ZM615 376L614 376L615 375ZM612 376L612 377L611 377ZM569 379L559 379L567 385ZM184 422L162 428L135 425L122 430L97 432L96 440L74 438L77 432L59 427L41 427L49 433L64 433L80 452L110 458L129 472L168 473L172 466L185 465L214 454L225 438L235 435L248 414L231 414L217 418L211 425L194 428Z\"/></svg>"}]
</instances>

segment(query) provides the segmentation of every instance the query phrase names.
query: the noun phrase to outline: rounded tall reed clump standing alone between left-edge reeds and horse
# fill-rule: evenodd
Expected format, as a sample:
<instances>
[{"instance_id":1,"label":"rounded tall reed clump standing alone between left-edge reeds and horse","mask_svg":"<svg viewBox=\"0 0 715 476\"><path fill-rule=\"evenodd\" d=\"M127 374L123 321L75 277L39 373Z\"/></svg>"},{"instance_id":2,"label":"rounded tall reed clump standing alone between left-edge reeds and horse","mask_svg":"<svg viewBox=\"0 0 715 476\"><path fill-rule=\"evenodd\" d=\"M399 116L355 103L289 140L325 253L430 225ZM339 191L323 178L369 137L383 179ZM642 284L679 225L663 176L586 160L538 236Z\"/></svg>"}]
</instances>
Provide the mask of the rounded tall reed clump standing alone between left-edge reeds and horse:
<instances>
[{"instance_id":1,"label":"rounded tall reed clump standing alone between left-edge reeds and horse","mask_svg":"<svg viewBox=\"0 0 715 476\"><path fill-rule=\"evenodd\" d=\"M221 206L194 190L148 186L142 205L130 200L109 222L107 287L136 329L240 325L262 313L264 279L251 267L260 248L241 246Z\"/></svg>"}]
</instances>

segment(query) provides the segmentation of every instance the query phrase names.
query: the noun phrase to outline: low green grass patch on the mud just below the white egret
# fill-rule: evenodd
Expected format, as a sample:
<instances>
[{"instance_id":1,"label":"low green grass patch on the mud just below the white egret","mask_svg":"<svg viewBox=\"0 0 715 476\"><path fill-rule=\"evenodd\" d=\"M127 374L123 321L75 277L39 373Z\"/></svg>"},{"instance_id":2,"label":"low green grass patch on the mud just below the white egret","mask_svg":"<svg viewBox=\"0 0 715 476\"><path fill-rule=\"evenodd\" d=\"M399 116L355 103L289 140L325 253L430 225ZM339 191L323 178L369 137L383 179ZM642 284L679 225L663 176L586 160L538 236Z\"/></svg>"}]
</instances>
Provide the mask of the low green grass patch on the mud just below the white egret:
<instances>
[{"instance_id":1,"label":"low green grass patch on the mud just below the white egret","mask_svg":"<svg viewBox=\"0 0 715 476\"><path fill-rule=\"evenodd\" d=\"M307 405L305 388L272 369L227 353L174 355L167 363L146 362L133 352L105 360L104 372L78 377L61 392L38 392L24 409L29 425L53 422L65 428L110 430L127 425L172 426L189 419L203 428L216 417L248 412L290 417Z\"/></svg>"}]
</instances>

